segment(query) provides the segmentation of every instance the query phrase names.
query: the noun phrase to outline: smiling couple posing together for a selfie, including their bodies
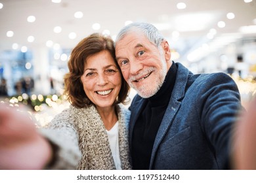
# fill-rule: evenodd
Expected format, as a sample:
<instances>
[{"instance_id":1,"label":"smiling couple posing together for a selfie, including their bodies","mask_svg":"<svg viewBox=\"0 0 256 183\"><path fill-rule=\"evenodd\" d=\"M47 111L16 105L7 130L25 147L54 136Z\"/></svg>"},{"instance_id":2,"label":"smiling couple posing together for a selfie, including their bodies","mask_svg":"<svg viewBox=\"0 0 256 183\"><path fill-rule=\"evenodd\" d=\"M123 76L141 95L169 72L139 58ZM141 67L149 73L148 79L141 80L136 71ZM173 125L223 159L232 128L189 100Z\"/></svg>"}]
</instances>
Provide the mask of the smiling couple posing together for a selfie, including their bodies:
<instances>
[{"instance_id":1,"label":"smiling couple posing together for a selfie, including their bodies","mask_svg":"<svg viewBox=\"0 0 256 183\"><path fill-rule=\"evenodd\" d=\"M235 82L172 61L154 25L129 24L115 43L93 33L68 68L71 105L47 127L0 106L0 169L233 168ZM127 109L129 87L138 94Z\"/></svg>"}]
</instances>

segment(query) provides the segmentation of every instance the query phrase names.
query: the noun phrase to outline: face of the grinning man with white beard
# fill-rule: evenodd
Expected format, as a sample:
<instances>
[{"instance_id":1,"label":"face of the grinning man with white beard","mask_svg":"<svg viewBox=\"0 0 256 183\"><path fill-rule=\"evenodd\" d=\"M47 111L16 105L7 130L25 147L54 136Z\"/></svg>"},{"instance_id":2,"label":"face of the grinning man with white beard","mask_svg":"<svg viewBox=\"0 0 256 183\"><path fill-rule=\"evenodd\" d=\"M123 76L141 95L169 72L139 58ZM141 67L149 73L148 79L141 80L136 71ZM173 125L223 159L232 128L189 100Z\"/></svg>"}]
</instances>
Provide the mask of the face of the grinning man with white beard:
<instances>
[{"instance_id":1,"label":"face of the grinning man with white beard","mask_svg":"<svg viewBox=\"0 0 256 183\"><path fill-rule=\"evenodd\" d=\"M163 49L160 52L141 31L116 42L116 58L125 80L143 98L158 92L170 67Z\"/></svg>"}]
</instances>

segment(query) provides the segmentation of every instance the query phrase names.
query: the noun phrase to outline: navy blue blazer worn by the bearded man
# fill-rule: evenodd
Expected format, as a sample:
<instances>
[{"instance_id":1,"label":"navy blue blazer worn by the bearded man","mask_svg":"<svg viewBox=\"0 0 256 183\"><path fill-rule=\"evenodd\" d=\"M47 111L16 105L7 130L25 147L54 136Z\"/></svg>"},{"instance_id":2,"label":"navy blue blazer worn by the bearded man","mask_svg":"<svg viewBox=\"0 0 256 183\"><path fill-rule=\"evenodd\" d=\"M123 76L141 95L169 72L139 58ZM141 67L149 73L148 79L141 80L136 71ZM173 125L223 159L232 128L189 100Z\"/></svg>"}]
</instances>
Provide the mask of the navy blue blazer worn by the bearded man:
<instances>
[{"instance_id":1,"label":"navy blue blazer worn by the bearded man","mask_svg":"<svg viewBox=\"0 0 256 183\"><path fill-rule=\"evenodd\" d=\"M175 64L177 78L154 141L150 169L228 169L230 133L241 108L236 83L225 73L193 75ZM129 107L130 147L145 101L136 95Z\"/></svg>"}]
</instances>

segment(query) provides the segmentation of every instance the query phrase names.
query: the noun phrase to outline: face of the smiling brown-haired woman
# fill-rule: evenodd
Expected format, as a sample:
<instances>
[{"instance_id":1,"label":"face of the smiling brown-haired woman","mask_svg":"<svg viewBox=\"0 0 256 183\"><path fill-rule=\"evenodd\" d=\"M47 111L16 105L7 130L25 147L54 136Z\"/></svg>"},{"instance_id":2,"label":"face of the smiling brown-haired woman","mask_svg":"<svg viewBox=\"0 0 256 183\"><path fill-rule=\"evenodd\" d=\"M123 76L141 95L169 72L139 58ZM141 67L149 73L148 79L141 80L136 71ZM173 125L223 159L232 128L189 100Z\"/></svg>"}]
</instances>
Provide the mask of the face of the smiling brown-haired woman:
<instances>
[{"instance_id":1,"label":"face of the smiling brown-haired woman","mask_svg":"<svg viewBox=\"0 0 256 183\"><path fill-rule=\"evenodd\" d=\"M97 108L112 107L121 88L121 73L110 52L104 50L87 58L81 82Z\"/></svg>"}]
</instances>

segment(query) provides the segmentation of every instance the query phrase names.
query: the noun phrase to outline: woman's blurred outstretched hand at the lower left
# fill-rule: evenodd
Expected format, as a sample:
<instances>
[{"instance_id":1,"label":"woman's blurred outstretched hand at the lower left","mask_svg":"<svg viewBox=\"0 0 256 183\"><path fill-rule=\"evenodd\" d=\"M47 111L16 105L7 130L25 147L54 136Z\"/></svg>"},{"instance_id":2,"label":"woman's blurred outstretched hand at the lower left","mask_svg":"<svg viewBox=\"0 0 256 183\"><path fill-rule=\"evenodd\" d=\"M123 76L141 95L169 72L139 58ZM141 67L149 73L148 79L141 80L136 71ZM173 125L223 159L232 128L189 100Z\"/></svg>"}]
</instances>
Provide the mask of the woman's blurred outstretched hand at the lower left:
<instances>
[{"instance_id":1,"label":"woman's blurred outstretched hand at the lower left","mask_svg":"<svg viewBox=\"0 0 256 183\"><path fill-rule=\"evenodd\" d=\"M0 169L43 169L52 156L30 116L0 104Z\"/></svg>"}]
</instances>

